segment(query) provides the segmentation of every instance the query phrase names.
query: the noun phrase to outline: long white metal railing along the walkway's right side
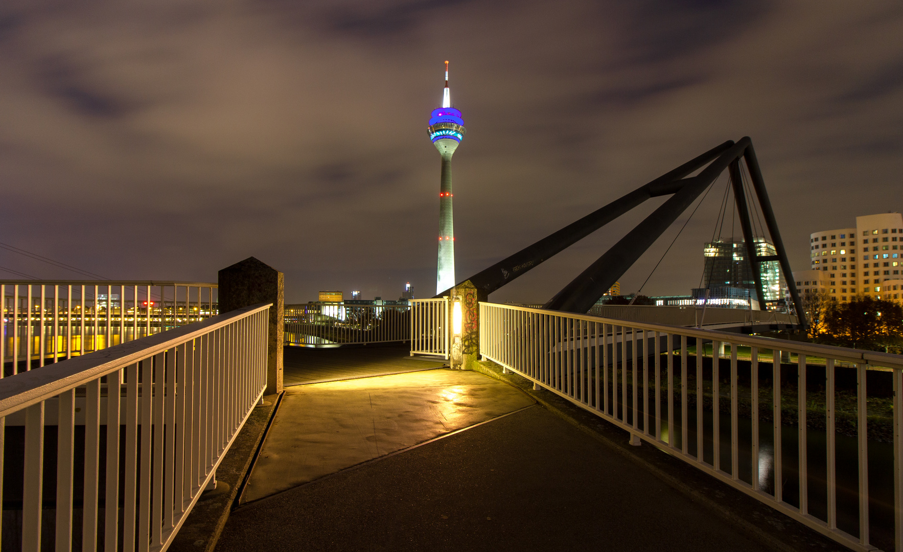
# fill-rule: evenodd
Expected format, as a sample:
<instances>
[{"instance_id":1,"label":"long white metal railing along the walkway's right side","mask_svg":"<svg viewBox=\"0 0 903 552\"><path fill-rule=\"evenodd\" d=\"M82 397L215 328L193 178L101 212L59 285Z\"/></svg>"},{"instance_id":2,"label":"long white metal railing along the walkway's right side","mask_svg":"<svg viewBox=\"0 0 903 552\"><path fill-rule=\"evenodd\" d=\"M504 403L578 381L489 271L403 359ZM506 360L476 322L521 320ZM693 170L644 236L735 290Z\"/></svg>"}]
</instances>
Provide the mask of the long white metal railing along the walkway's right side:
<instances>
[{"instance_id":1,"label":"long white metal railing along the walkway's right side","mask_svg":"<svg viewBox=\"0 0 903 552\"><path fill-rule=\"evenodd\" d=\"M903 550L903 355L479 308L484 357L635 444L655 444L854 550Z\"/></svg>"}]
</instances>

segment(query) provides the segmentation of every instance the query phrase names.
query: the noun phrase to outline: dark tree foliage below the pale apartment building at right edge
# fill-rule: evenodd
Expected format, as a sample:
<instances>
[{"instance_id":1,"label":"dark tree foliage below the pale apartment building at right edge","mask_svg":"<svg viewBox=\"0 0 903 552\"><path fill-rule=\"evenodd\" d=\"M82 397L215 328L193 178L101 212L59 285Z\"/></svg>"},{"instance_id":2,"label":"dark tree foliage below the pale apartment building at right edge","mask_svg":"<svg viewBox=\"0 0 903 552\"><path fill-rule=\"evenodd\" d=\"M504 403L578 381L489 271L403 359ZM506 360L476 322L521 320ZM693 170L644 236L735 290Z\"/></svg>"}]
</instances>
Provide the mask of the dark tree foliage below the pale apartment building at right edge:
<instances>
[{"instance_id":1,"label":"dark tree foliage below the pale apartment building at right edge","mask_svg":"<svg viewBox=\"0 0 903 552\"><path fill-rule=\"evenodd\" d=\"M903 306L870 296L831 304L827 333L839 344L871 351L898 352L903 346Z\"/></svg>"}]
</instances>

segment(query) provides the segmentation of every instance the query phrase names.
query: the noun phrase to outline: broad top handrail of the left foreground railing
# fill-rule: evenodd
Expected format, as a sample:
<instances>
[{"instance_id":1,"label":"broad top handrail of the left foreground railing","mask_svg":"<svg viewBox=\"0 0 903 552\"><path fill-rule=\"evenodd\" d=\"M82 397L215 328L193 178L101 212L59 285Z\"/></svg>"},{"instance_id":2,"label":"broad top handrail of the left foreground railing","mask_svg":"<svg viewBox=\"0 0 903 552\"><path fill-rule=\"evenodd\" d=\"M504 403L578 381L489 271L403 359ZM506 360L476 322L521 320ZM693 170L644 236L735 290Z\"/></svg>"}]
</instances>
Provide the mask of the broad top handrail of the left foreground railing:
<instances>
[{"instance_id":1,"label":"broad top handrail of the left foreground railing","mask_svg":"<svg viewBox=\"0 0 903 552\"><path fill-rule=\"evenodd\" d=\"M211 316L198 323L154 333L135 341L126 341L107 349L89 352L65 362L0 379L0 417L76 388L85 381L106 376L158 352L172 349L185 341L191 341L271 306L272 303L254 304L230 313Z\"/></svg>"}]
</instances>

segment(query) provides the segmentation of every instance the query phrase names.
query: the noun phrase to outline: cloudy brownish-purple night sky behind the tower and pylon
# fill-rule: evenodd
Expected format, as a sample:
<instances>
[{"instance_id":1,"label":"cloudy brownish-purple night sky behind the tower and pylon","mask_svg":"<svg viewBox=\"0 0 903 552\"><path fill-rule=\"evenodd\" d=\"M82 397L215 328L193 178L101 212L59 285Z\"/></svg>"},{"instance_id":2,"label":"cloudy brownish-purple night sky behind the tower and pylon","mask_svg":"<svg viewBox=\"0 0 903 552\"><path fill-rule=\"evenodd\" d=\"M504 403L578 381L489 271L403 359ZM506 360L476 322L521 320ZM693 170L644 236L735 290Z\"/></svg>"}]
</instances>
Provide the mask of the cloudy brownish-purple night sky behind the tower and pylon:
<instances>
[{"instance_id":1,"label":"cloudy brownish-purple night sky behind the tower and pylon","mask_svg":"<svg viewBox=\"0 0 903 552\"><path fill-rule=\"evenodd\" d=\"M0 241L116 279L216 281L255 256L285 273L287 303L396 298L407 281L431 296L440 158L426 124L445 60L468 130L453 163L459 280L746 135L795 269L809 232L900 209L898 0L7 0ZM644 294L698 285L723 185ZM661 201L491 298L545 302ZM84 277L2 249L0 266Z\"/></svg>"}]
</instances>

